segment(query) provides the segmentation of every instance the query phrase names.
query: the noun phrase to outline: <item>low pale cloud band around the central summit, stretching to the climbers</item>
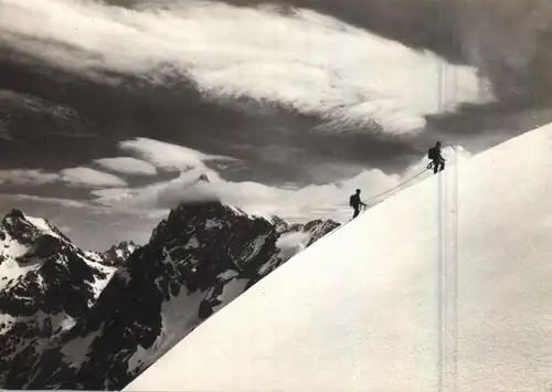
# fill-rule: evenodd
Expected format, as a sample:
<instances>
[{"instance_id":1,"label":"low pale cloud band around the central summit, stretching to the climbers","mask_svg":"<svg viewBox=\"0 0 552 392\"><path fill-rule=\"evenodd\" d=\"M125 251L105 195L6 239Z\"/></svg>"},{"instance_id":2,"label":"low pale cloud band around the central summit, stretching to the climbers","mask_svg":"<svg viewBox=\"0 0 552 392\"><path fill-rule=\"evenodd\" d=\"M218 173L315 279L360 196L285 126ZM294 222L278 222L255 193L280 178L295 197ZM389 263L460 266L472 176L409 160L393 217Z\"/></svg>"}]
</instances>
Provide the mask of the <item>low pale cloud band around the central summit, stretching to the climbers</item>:
<instances>
[{"instance_id":1,"label":"low pale cloud band around the central summit, stretching to the climbers","mask_svg":"<svg viewBox=\"0 0 552 392\"><path fill-rule=\"evenodd\" d=\"M444 149L445 158L466 159L468 151L459 146ZM145 211L167 211L180 202L197 200L221 200L223 203L236 205L253 214L276 214L291 222L305 222L312 219L349 218L349 194L357 188L363 190L367 202L375 204L432 176L426 170L424 158L405 170L402 174L385 174L381 170L364 170L360 174L339 182L322 186L307 186L291 189L289 187L269 187L253 181L226 181L215 171L199 166L182 172L178 178L142 188L121 188L95 190L95 202L118 211L144 213ZM423 176L420 173L423 172ZM209 177L209 182L199 181L201 174ZM414 178L414 179L413 179ZM413 180L411 180L413 179ZM405 182L403 184L403 182ZM397 187L393 192L379 195Z\"/></svg>"}]
</instances>

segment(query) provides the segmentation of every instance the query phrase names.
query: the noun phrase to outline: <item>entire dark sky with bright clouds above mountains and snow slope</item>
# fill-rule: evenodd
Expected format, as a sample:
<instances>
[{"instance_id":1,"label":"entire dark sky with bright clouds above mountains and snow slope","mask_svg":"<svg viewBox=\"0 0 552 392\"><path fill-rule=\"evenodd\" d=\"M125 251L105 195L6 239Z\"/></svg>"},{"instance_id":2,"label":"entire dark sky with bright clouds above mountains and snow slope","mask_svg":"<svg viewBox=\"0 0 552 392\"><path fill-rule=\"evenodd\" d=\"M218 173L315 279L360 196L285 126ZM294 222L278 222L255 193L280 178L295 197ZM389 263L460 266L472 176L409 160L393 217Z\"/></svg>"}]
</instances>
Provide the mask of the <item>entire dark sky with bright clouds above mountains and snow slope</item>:
<instances>
[{"instance_id":1,"label":"entire dark sky with bright clouds above mountains and snow slope","mask_svg":"<svg viewBox=\"0 0 552 392\"><path fill-rule=\"evenodd\" d=\"M145 241L208 172L254 212L314 219L327 194L342 218L435 139L477 153L551 120L551 24L489 1L0 0L0 213ZM507 33L514 12L534 28Z\"/></svg>"}]
</instances>

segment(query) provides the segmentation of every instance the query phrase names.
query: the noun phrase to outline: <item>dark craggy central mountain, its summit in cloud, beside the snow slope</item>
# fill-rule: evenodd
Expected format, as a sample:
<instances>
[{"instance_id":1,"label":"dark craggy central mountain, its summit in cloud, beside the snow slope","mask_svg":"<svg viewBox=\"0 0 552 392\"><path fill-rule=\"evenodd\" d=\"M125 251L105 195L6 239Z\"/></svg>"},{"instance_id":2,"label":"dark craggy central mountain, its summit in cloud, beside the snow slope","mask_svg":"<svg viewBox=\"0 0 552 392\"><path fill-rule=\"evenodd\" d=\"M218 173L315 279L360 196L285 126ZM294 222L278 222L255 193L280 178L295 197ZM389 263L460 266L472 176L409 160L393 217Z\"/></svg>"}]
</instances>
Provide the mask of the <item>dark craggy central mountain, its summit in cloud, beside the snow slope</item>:
<instances>
[{"instance_id":1,"label":"dark craggy central mountain, its summit in cloud, beside the snow slope","mask_svg":"<svg viewBox=\"0 0 552 392\"><path fill-rule=\"evenodd\" d=\"M219 202L182 204L160 222L146 245L131 253L134 244L123 245L130 255L118 263L97 301L72 314L64 330L50 333L45 349L21 353L8 341L13 354L1 368L0 386L120 389L203 320L338 226L331 221L289 225ZM82 259L95 258L63 241ZM107 253L86 263L114 271L102 263ZM12 362L19 365L12 368Z\"/></svg>"}]
</instances>

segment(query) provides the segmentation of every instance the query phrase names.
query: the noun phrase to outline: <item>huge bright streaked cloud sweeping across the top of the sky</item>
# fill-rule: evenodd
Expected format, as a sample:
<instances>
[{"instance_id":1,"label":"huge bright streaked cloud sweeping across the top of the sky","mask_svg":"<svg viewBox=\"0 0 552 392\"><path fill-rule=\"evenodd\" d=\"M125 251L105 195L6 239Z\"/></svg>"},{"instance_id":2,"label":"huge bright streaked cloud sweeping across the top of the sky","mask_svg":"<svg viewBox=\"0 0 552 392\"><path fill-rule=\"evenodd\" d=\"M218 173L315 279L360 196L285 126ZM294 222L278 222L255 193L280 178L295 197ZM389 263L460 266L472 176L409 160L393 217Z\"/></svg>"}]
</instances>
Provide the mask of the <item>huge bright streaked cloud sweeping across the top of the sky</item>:
<instances>
[{"instance_id":1,"label":"huge bright streaked cloud sweeping across the top of the sky","mask_svg":"<svg viewBox=\"0 0 552 392\"><path fill-rule=\"evenodd\" d=\"M421 131L424 115L439 110L442 60L312 11L283 14L208 1L155 9L2 2L0 34L8 44L78 73L109 70L157 84L191 77L211 98L278 102L328 121L375 119L378 131L397 135ZM454 100L477 100L474 70L455 70L458 84L470 87Z\"/></svg>"}]
</instances>

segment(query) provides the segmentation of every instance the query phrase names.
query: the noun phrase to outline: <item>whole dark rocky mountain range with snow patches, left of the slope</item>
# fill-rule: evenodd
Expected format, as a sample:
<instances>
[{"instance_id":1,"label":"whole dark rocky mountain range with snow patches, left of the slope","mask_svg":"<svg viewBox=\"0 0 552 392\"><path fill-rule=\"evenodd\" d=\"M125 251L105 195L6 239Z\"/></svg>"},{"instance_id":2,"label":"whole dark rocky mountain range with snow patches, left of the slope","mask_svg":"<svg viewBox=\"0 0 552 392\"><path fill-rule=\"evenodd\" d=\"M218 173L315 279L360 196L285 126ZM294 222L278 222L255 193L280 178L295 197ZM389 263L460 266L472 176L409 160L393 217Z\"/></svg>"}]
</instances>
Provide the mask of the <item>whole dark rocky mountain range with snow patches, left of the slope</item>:
<instances>
[{"instance_id":1,"label":"whole dark rocky mountain range with snow patches, left of the slope","mask_svg":"<svg viewBox=\"0 0 552 392\"><path fill-rule=\"evenodd\" d=\"M12 210L0 223L0 388L119 390L337 227L198 202L171 210L146 244L98 253Z\"/></svg>"}]
</instances>

